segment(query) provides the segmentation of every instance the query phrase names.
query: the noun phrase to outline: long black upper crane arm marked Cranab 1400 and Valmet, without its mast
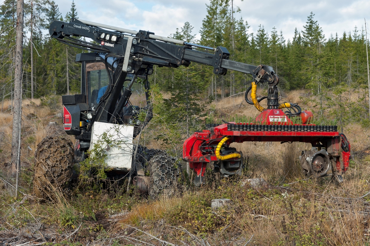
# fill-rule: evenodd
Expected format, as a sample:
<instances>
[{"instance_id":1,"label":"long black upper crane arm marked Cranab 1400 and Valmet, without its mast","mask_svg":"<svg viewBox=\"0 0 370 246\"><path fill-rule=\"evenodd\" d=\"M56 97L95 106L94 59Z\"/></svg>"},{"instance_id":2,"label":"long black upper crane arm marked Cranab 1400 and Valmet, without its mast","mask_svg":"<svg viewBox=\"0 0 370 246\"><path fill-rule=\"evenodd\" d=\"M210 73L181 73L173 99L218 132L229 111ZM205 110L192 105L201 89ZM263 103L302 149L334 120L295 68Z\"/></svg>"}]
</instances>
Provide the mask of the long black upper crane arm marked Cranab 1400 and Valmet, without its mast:
<instances>
[{"instance_id":1,"label":"long black upper crane arm marked Cranab 1400 and Valmet, without its mast","mask_svg":"<svg viewBox=\"0 0 370 246\"><path fill-rule=\"evenodd\" d=\"M225 47L211 48L157 36L149 31L128 30L76 18L69 23L53 21L50 24L50 35L62 43L90 51L121 55L129 53L129 57L144 64L178 67L189 65L189 62L193 61L213 66L213 72L222 75L225 75L228 69L246 74L253 74L253 70L256 69L254 65L228 60L230 53ZM98 44L72 38L72 36L91 38ZM212 52L194 50L192 47L204 48ZM125 57L123 71L127 71L129 57ZM272 67L269 67L269 70L273 72ZM134 73L135 69L127 72Z\"/></svg>"}]
</instances>

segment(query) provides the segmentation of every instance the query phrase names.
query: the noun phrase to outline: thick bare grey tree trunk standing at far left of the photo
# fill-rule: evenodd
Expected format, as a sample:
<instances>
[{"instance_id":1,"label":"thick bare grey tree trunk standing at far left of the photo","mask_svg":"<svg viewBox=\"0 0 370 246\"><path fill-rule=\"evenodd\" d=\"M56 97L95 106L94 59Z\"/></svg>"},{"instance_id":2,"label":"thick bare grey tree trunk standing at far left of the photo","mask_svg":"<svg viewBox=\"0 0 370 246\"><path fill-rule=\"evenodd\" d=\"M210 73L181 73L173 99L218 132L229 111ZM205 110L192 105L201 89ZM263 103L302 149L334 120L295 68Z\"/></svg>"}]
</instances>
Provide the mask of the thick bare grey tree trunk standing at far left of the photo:
<instances>
[{"instance_id":1,"label":"thick bare grey tree trunk standing at far left of the photo","mask_svg":"<svg viewBox=\"0 0 370 246\"><path fill-rule=\"evenodd\" d=\"M13 132L11 135L11 172L17 172L17 159L19 148L21 97L22 97L22 75L23 75L23 0L17 0L17 26L16 26L16 55L14 59L14 110L13 110Z\"/></svg>"}]
</instances>

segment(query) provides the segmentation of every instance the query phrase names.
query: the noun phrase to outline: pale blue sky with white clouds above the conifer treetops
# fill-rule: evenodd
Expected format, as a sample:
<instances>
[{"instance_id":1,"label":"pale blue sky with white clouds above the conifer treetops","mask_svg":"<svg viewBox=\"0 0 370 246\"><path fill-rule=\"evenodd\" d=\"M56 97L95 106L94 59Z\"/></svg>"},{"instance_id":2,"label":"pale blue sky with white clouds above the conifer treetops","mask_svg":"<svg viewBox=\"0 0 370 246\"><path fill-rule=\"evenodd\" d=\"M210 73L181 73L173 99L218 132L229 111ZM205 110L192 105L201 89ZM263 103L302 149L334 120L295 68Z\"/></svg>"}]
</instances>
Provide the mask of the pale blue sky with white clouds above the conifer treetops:
<instances>
[{"instance_id":1,"label":"pale blue sky with white clouds above the conifer treetops","mask_svg":"<svg viewBox=\"0 0 370 246\"><path fill-rule=\"evenodd\" d=\"M70 10L71 2L55 0L63 16ZM165 37L188 21L194 27L196 38L200 37L208 3L209 0L75 0L78 17L83 20L137 31L148 30ZM361 29L364 18L370 21L369 0L233 0L233 4L235 9L239 7L241 10L235 17L248 22L248 33L256 33L259 25L268 32L276 27L278 32L283 32L285 40L292 40L295 28L303 29L311 11L325 38L336 33L342 36L344 31L353 31L355 26Z\"/></svg>"}]
</instances>

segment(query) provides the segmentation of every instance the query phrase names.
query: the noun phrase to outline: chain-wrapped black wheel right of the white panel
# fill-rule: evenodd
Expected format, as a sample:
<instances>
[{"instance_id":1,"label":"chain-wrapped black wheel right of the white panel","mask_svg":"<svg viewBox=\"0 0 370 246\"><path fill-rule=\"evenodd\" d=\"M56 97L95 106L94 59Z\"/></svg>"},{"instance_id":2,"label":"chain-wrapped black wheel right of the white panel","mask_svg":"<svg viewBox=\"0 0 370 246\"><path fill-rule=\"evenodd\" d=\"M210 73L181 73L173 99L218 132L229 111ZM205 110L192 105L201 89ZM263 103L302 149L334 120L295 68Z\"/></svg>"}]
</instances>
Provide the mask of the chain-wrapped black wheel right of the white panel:
<instances>
[{"instance_id":1,"label":"chain-wrapped black wheel right of the white panel","mask_svg":"<svg viewBox=\"0 0 370 246\"><path fill-rule=\"evenodd\" d=\"M148 149L146 152L145 159L150 174L149 195L156 196L164 189L174 191L178 186L181 165L165 151Z\"/></svg>"}]
</instances>

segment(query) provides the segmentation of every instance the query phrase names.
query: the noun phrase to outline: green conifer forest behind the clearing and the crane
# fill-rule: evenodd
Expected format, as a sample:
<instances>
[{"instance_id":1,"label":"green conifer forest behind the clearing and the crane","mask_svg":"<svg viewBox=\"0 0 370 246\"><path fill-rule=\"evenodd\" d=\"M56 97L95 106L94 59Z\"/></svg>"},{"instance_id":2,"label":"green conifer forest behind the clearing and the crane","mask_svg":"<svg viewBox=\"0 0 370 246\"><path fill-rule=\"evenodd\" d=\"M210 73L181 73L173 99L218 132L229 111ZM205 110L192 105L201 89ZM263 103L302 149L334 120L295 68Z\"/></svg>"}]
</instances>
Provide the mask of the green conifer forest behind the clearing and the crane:
<instances>
[{"instance_id":1,"label":"green conifer forest behind the clearing and the crane","mask_svg":"<svg viewBox=\"0 0 370 246\"><path fill-rule=\"evenodd\" d=\"M314 13L307 13L307 22L296 27L292 40L284 37L279 27L265 30L260 25L256 33L250 33L248 20L235 19L229 0L210 0L201 30L194 30L191 20L169 36L199 43L204 46L223 46L231 53L231 60L248 64L271 65L280 78L280 90L310 89L313 94L326 100L327 91L340 95L346 91L356 94L356 101L349 101L347 108L353 113L343 121L366 121L367 67L366 32L364 26L353 30L324 36ZM74 1L68 13L60 13L57 4L50 0L28 0L24 5L24 75L23 97L31 98L31 80L35 98L80 93L80 64L74 63L75 55L83 51L67 47L48 35L48 25L53 20L69 21L78 17ZM0 97L11 99L14 78L14 50L16 25L16 0L5 0L0 7ZM91 20L94 21L94 20ZM150 30L156 31L156 30ZM196 32L199 31L199 40ZM32 46L31 46L32 43ZM32 49L31 49L32 47ZM31 50L33 55L31 58ZM31 60L33 64L31 64ZM33 65L33 71L31 71ZM67 87L67 80L69 88ZM161 92L171 94L164 100L167 107L181 105L187 98L187 111L201 114L210 101L221 100L246 90L250 77L229 71L227 75L214 75L212 68L191 64L179 69L155 67L150 77L152 85ZM343 99L344 100L344 99ZM362 102L360 105L359 102ZM333 102L336 104L336 102ZM319 107L322 102L318 102ZM321 105L321 106L320 106ZM4 105L1 105L2 111ZM347 110L343 108L343 110ZM321 112L323 108L321 108ZM177 113L176 113L177 114ZM186 113L189 115L189 112ZM196 118L197 118L196 117ZM199 118L199 117L198 117Z\"/></svg>"}]
</instances>

